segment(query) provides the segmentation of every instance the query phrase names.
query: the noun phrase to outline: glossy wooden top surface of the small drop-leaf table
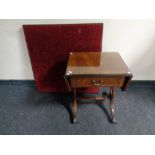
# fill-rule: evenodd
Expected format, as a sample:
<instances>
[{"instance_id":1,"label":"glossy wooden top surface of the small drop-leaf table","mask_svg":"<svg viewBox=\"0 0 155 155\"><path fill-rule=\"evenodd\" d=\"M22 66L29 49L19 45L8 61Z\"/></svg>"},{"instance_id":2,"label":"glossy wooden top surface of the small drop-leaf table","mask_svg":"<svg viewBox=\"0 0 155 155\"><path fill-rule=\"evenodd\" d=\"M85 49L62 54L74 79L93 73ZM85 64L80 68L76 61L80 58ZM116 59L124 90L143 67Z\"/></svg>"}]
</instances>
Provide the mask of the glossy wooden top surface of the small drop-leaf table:
<instances>
[{"instance_id":1,"label":"glossy wooden top surface of the small drop-leaf table","mask_svg":"<svg viewBox=\"0 0 155 155\"><path fill-rule=\"evenodd\" d=\"M66 76L75 75L131 76L132 73L118 52L72 52Z\"/></svg>"}]
</instances>

